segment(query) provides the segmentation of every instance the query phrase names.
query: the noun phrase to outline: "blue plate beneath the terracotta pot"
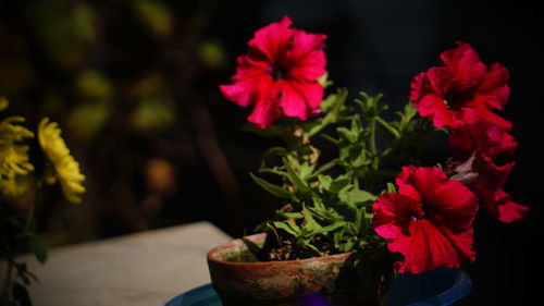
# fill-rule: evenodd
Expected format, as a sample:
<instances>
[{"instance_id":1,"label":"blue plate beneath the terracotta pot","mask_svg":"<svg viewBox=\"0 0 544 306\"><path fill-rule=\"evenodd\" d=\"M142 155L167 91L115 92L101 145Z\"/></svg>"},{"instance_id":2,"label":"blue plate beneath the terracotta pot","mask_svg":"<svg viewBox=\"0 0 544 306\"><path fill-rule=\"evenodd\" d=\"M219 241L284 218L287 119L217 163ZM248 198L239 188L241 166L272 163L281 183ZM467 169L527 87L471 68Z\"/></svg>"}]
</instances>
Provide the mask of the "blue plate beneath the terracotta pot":
<instances>
[{"instance_id":1,"label":"blue plate beneath the terracotta pot","mask_svg":"<svg viewBox=\"0 0 544 306\"><path fill-rule=\"evenodd\" d=\"M466 296L471 281L460 269L437 268L420 274L399 274L390 287L387 306L446 306ZM172 298L165 306L222 306L211 284Z\"/></svg>"}]
</instances>

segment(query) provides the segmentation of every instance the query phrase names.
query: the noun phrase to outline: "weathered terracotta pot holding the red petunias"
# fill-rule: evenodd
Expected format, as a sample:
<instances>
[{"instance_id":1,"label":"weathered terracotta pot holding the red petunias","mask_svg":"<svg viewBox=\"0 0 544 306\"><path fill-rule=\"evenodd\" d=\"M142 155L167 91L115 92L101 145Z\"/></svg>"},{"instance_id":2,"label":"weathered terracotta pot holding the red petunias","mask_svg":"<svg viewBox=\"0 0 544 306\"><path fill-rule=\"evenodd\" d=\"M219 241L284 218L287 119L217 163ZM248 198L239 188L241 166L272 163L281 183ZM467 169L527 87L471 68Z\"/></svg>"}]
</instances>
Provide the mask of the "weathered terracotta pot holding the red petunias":
<instances>
[{"instance_id":1,"label":"weathered terracotta pot holding the red petunias","mask_svg":"<svg viewBox=\"0 0 544 306\"><path fill-rule=\"evenodd\" d=\"M245 238L262 244L265 234L250 235ZM370 290L371 293L367 290L361 294L361 286L354 285L350 280L342 280L343 277L353 274L346 273L344 267L351 256L350 253L300 260L227 261L231 254L243 249L247 249L243 240L234 240L208 253L212 285L224 306L300 305L301 298L312 293L327 296L330 301L341 302L342 305L378 304L379 298L374 289ZM339 284L349 284L357 293L341 290ZM368 298L369 294L372 298ZM354 298L357 301L349 301ZM374 302L361 304L361 298Z\"/></svg>"}]
</instances>

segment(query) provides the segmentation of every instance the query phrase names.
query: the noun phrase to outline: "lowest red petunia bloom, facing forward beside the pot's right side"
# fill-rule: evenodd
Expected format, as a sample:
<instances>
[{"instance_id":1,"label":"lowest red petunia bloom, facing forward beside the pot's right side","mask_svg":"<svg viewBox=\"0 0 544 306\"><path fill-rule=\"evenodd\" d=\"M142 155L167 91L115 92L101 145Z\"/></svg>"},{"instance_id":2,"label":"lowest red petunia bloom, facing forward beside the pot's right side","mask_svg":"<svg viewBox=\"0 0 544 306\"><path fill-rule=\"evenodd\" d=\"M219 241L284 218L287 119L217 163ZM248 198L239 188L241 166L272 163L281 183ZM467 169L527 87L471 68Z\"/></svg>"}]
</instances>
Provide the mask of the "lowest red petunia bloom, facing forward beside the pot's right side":
<instances>
[{"instance_id":1,"label":"lowest red petunia bloom, facing forward beside the pot's right side","mask_svg":"<svg viewBox=\"0 0 544 306\"><path fill-rule=\"evenodd\" d=\"M436 267L459 267L475 259L472 221L478 200L462 183L438 168L405 167L398 193L373 205L372 224L391 252L404 255L399 272L419 273Z\"/></svg>"}]
</instances>

